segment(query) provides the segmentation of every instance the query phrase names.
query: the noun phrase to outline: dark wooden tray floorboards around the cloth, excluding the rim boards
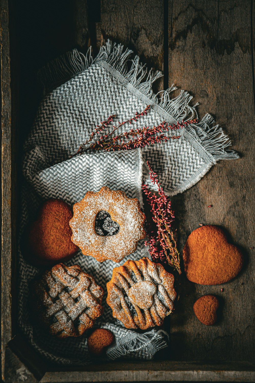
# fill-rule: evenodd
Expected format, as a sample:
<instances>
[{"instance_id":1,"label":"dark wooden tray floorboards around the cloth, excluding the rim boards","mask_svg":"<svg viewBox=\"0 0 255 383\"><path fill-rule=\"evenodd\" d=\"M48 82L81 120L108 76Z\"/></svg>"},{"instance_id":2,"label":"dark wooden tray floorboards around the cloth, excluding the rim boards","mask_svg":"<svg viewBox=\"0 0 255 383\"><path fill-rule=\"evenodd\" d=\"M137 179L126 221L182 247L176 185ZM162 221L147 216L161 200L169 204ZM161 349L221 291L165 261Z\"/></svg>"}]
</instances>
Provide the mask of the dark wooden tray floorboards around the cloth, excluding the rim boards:
<instances>
[{"instance_id":1,"label":"dark wooden tray floorboards around the cloth, excluding the rim boards","mask_svg":"<svg viewBox=\"0 0 255 383\"><path fill-rule=\"evenodd\" d=\"M254 361L253 1L12 0L9 13L18 175L14 188L19 185L22 142L41 98L38 69L74 47L86 52L91 44L96 54L108 38L163 71L155 91L172 83L188 90L194 103L199 102L200 117L211 113L229 134L241 159L218 162L195 186L175 196L173 207L181 251L199 223L216 224L243 249L245 266L235 280L222 286L195 285L182 275L168 357ZM192 311L196 299L207 293L216 294L221 306L219 321L212 327L202 325Z\"/></svg>"}]
</instances>

